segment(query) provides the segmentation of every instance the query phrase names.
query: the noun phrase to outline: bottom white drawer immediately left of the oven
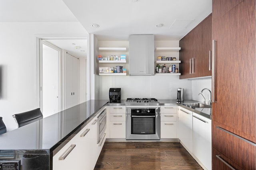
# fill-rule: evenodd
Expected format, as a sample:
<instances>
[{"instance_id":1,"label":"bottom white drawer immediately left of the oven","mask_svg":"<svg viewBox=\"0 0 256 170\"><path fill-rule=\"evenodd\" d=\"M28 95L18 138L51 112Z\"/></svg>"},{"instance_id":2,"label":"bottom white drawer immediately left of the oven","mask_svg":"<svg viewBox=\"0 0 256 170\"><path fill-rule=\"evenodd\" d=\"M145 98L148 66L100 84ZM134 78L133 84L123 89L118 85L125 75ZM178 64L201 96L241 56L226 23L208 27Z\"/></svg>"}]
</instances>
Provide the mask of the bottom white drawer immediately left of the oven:
<instances>
[{"instance_id":1,"label":"bottom white drawer immediately left of the oven","mask_svg":"<svg viewBox=\"0 0 256 170\"><path fill-rule=\"evenodd\" d=\"M110 138L126 138L125 121L110 122Z\"/></svg>"}]
</instances>

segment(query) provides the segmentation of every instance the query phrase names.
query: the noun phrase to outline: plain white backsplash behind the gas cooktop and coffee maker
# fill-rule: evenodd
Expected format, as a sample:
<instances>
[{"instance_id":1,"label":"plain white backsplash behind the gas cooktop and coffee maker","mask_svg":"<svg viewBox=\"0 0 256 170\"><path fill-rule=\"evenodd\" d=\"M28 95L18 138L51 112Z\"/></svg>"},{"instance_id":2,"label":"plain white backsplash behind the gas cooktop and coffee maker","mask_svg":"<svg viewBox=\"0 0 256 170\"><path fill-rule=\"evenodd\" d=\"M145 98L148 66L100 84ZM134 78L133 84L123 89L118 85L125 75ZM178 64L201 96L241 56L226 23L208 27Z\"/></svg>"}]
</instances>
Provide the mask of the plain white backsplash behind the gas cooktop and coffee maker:
<instances>
[{"instance_id":1,"label":"plain white backsplash behind the gas cooktop and coffee maker","mask_svg":"<svg viewBox=\"0 0 256 170\"><path fill-rule=\"evenodd\" d=\"M191 81L178 76L100 76L100 99L108 99L109 88L121 88L121 98L156 98L176 100L177 88L184 88L184 98L191 100Z\"/></svg>"}]
</instances>

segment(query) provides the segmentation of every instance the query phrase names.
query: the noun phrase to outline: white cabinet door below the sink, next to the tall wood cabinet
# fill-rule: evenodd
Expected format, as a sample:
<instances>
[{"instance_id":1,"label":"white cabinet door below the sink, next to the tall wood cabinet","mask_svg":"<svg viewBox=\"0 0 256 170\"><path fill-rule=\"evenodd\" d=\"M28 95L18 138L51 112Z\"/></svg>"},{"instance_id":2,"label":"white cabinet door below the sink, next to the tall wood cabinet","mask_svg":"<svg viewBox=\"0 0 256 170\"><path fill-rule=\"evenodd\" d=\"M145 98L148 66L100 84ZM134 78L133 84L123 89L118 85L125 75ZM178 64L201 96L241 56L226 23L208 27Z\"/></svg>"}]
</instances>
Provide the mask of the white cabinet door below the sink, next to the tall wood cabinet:
<instances>
[{"instance_id":1,"label":"white cabinet door below the sink, next to the tall wood cabinet","mask_svg":"<svg viewBox=\"0 0 256 170\"><path fill-rule=\"evenodd\" d=\"M193 154L212 169L212 120L193 112Z\"/></svg>"}]
</instances>

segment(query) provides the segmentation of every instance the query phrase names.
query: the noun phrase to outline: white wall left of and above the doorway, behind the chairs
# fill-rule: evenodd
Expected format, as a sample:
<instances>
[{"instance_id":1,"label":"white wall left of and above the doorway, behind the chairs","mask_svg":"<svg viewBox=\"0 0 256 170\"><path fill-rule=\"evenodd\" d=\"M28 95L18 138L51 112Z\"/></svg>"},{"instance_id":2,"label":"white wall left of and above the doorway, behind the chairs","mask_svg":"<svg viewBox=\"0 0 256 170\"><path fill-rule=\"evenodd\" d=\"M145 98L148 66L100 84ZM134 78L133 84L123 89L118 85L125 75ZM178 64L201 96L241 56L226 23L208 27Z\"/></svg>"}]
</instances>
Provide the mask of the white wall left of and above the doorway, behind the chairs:
<instances>
[{"instance_id":1,"label":"white wall left of and above the doorway, behind the chairs","mask_svg":"<svg viewBox=\"0 0 256 170\"><path fill-rule=\"evenodd\" d=\"M79 22L0 23L0 116L7 131L17 128L12 114L39 106L36 37L87 34Z\"/></svg>"}]
</instances>

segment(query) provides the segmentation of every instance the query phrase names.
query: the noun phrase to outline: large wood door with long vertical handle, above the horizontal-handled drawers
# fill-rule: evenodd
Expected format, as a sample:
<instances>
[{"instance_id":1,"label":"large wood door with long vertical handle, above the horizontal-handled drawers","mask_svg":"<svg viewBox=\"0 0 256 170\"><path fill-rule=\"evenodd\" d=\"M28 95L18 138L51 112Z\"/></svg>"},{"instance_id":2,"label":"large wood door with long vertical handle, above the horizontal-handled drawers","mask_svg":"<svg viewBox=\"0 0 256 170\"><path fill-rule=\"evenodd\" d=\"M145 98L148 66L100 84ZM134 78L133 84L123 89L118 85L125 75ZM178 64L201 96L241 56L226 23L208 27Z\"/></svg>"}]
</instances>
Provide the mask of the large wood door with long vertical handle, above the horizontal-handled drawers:
<instances>
[{"instance_id":1,"label":"large wood door with long vertical handle, above the horizontal-handled drawers","mask_svg":"<svg viewBox=\"0 0 256 170\"><path fill-rule=\"evenodd\" d=\"M216 40L212 120L255 143L255 0L242 1L212 24Z\"/></svg>"}]
</instances>

